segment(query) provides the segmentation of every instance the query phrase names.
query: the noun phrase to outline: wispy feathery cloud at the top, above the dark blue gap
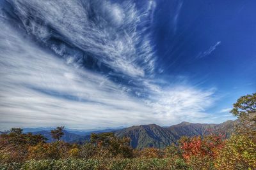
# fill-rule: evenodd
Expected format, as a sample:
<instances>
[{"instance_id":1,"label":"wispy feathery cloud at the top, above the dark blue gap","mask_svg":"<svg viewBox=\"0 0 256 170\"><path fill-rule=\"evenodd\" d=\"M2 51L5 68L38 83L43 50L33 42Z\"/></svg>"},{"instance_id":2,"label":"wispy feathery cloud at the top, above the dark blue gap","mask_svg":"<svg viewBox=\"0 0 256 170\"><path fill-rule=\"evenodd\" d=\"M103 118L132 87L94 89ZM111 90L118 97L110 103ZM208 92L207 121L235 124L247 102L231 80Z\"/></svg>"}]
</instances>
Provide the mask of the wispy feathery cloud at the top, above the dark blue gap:
<instances>
[{"instance_id":1,"label":"wispy feathery cloud at the top, above the dark blue gap","mask_svg":"<svg viewBox=\"0 0 256 170\"><path fill-rule=\"evenodd\" d=\"M26 31L38 41L61 36L68 44L127 76L145 76L154 70L154 52L145 31L153 11L140 11L129 1L120 4L104 0L11 2ZM44 21L43 24L28 19L31 11L35 20ZM58 33L49 29L49 25ZM58 55L77 57L67 55L67 46L63 44L53 44L51 48ZM78 60L83 62L83 57L78 56Z\"/></svg>"}]
</instances>

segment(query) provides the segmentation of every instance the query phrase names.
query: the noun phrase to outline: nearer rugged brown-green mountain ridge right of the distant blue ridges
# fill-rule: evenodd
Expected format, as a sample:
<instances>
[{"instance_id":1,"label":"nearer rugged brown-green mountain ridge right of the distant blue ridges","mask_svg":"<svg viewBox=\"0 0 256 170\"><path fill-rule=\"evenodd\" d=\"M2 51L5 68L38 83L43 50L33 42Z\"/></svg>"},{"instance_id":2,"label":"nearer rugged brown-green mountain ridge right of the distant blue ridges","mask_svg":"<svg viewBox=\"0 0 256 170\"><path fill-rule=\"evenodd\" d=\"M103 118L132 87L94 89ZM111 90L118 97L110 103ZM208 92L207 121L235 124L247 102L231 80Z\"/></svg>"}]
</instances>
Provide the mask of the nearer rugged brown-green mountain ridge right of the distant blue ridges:
<instances>
[{"instance_id":1,"label":"nearer rugged brown-green mountain ridge right of the distant blue ridges","mask_svg":"<svg viewBox=\"0 0 256 170\"><path fill-rule=\"evenodd\" d=\"M170 127L160 127L156 124L132 126L120 131L115 135L122 138L131 138L133 148L157 147L164 148L171 143L176 143L182 136L204 136L211 132L222 132L228 138L234 130L237 121L228 120L222 124L192 124L182 122Z\"/></svg>"}]
</instances>

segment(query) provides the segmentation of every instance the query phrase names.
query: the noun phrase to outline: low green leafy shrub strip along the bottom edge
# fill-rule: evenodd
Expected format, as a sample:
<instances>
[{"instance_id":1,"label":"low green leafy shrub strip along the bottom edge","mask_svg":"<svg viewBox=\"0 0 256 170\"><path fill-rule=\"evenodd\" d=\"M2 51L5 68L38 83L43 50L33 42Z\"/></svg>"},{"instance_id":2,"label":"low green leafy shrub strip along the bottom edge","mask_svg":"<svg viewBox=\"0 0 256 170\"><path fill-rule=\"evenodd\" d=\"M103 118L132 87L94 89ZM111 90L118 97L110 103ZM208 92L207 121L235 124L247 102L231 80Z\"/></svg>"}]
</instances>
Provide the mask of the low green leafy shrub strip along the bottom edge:
<instances>
[{"instance_id":1,"label":"low green leafy shrub strip along the bottom edge","mask_svg":"<svg viewBox=\"0 0 256 170\"><path fill-rule=\"evenodd\" d=\"M188 169L183 160L170 159L64 159L28 160L24 164L6 164L0 169Z\"/></svg>"}]
</instances>

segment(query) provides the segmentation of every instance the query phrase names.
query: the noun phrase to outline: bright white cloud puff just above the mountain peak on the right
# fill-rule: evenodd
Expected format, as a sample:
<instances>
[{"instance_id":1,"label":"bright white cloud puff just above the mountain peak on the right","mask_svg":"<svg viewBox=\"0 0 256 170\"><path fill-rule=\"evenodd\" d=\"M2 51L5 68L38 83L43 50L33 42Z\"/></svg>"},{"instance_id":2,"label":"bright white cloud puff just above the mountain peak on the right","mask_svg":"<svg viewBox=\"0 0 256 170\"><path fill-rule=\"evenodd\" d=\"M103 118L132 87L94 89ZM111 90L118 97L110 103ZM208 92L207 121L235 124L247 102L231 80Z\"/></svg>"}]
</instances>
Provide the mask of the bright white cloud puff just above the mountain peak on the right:
<instances>
[{"instance_id":1,"label":"bright white cloud puff just above the mountain peak on the right","mask_svg":"<svg viewBox=\"0 0 256 170\"><path fill-rule=\"evenodd\" d=\"M196 122L212 116L205 113L205 110L214 103L212 97L214 91L214 89L203 91L177 85L156 91L156 94L150 97L150 101L147 103L152 106L152 110L161 120L161 124L168 125L170 122L174 124L184 120Z\"/></svg>"}]
</instances>

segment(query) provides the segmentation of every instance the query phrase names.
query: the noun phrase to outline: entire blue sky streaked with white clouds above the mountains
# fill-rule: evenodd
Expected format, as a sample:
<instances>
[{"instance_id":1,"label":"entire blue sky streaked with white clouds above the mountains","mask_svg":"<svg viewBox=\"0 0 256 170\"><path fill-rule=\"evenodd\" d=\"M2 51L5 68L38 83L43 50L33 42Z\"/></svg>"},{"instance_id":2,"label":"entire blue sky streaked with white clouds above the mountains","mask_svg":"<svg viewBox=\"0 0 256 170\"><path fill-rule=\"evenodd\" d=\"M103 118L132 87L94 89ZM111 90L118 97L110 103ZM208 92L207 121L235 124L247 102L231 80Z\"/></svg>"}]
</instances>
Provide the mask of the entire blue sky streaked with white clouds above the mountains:
<instances>
[{"instance_id":1,"label":"entire blue sky streaked with white clouds above the mountains","mask_svg":"<svg viewBox=\"0 0 256 170\"><path fill-rule=\"evenodd\" d=\"M0 130L235 120L256 1L0 0Z\"/></svg>"}]
</instances>

